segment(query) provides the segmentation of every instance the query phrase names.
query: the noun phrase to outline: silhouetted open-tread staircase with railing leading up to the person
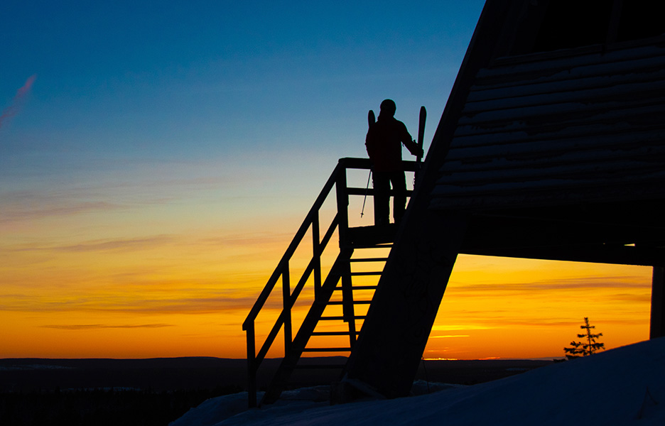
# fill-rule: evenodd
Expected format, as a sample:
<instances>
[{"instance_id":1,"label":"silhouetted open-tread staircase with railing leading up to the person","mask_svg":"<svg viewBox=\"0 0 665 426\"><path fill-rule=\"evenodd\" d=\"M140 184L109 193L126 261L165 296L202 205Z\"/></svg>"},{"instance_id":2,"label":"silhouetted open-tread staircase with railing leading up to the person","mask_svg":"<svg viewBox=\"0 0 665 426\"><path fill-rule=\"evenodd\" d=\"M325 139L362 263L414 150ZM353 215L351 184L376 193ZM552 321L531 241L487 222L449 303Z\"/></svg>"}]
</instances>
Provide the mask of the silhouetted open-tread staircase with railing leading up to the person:
<instances>
[{"instance_id":1,"label":"silhouetted open-tread staircase with railing leading up to the person","mask_svg":"<svg viewBox=\"0 0 665 426\"><path fill-rule=\"evenodd\" d=\"M416 163L404 162L406 170L415 170ZM348 206L350 196L373 195L370 188L348 187L347 170L369 170L367 159L341 158L323 190L315 200L303 224L293 237L274 273L261 291L254 307L242 324L247 332L247 371L249 406L255 407L257 372L279 334L283 334L283 359L266 389L261 403L273 403L282 391L293 386L291 376L297 370L339 368L344 362L313 363L305 354L350 354L364 320L364 307L369 307L378 279L383 271L387 253L392 246L394 225L350 227ZM320 224L322 207L335 190L336 213L322 235ZM310 234L311 241L306 239ZM325 274L324 252L330 257L328 243L333 236L339 239L334 261ZM297 281L291 265L298 247L311 245L312 256ZM298 271L299 272L299 271ZM325 276L324 276L325 275ZM372 280L374 277L374 280ZM281 280L281 310L274 325L266 333L264 342L256 351L257 317L261 311L270 311L269 297ZM293 286L292 283L295 283ZM341 307L341 312L340 312ZM294 312L307 310L300 327L294 327ZM297 319L296 319L297 320ZM294 333L294 328L297 328ZM321 344L325 340L327 344ZM330 342L333 342L332 344Z\"/></svg>"}]
</instances>

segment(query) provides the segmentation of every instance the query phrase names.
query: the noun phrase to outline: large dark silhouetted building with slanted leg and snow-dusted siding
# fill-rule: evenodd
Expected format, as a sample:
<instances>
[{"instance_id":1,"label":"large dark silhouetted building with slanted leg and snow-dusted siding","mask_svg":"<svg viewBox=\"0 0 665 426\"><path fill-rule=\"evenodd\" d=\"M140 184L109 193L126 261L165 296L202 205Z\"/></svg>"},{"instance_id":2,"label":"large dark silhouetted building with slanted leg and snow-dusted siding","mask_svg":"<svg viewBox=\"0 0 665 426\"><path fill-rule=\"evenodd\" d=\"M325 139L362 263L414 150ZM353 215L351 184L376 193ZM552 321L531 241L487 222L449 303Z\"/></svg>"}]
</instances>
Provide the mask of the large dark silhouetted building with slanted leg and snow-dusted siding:
<instances>
[{"instance_id":1,"label":"large dark silhouetted building with slanted leg and snow-dusted siding","mask_svg":"<svg viewBox=\"0 0 665 426\"><path fill-rule=\"evenodd\" d=\"M487 0L342 383L409 393L459 253L653 266L651 335L665 334L656 9ZM354 235L340 228L342 251L359 244ZM342 283L345 274L340 266Z\"/></svg>"}]
</instances>

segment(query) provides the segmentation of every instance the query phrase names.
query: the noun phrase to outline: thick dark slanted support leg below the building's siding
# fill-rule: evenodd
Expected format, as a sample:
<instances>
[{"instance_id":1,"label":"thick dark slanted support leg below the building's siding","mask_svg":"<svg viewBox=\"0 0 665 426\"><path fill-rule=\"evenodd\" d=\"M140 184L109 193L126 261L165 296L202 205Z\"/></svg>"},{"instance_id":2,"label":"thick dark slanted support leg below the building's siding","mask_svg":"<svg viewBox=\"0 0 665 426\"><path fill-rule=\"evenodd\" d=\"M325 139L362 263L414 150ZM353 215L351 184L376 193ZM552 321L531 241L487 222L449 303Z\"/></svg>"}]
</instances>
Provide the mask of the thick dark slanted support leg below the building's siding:
<instances>
[{"instance_id":1,"label":"thick dark slanted support leg below the building's siding","mask_svg":"<svg viewBox=\"0 0 665 426\"><path fill-rule=\"evenodd\" d=\"M411 391L467 224L432 212L413 219L398 234L345 368L345 378L387 398Z\"/></svg>"}]
</instances>

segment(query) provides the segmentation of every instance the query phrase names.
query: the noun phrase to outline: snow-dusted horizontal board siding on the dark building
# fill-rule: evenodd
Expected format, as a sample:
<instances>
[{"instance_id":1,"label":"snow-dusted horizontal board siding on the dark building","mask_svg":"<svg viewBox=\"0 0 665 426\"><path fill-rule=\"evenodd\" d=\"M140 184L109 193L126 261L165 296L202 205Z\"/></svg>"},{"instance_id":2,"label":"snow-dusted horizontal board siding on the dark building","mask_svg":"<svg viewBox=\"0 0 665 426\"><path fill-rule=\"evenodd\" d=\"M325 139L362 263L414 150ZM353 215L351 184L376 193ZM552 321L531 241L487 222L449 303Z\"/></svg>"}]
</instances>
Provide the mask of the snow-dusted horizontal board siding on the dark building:
<instances>
[{"instance_id":1,"label":"snow-dusted horizontal board siding on the dark building","mask_svg":"<svg viewBox=\"0 0 665 426\"><path fill-rule=\"evenodd\" d=\"M497 60L477 73L435 209L663 198L665 40Z\"/></svg>"}]
</instances>

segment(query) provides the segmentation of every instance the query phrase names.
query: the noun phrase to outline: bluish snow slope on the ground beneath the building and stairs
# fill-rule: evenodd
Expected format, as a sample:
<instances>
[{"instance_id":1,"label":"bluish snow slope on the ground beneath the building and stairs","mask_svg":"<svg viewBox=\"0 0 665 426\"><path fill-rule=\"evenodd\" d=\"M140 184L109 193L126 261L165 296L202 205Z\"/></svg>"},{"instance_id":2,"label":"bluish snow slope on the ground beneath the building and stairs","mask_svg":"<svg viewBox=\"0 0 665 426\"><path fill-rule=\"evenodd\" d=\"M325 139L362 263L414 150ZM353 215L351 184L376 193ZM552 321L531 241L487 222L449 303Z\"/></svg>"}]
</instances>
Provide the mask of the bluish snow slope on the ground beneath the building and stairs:
<instances>
[{"instance_id":1,"label":"bluish snow slope on the ground beneath the building and stairs","mask_svg":"<svg viewBox=\"0 0 665 426\"><path fill-rule=\"evenodd\" d=\"M665 425L665 338L426 395L342 405L327 397L308 388L247 410L247 393L225 395L171 426Z\"/></svg>"}]
</instances>

